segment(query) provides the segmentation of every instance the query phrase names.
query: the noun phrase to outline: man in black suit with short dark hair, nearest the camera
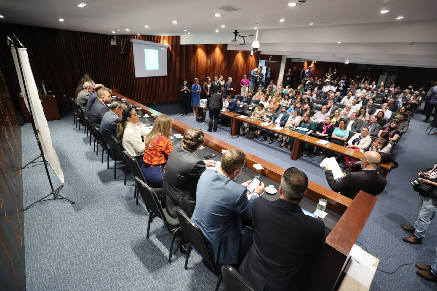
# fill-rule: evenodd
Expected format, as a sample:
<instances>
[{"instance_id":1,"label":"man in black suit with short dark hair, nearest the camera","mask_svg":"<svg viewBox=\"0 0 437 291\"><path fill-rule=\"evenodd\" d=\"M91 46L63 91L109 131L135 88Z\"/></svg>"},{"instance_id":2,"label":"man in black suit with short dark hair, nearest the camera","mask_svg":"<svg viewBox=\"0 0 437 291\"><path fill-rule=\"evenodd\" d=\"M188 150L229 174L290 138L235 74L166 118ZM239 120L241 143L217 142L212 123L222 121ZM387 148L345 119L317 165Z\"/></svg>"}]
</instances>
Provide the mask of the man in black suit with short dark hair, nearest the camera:
<instances>
[{"instance_id":1,"label":"man in black suit with short dark hair, nearest the camera","mask_svg":"<svg viewBox=\"0 0 437 291\"><path fill-rule=\"evenodd\" d=\"M305 173L291 167L281 178L279 199L253 201L253 245L239 271L255 289L304 289L309 266L325 242L323 222L299 206L307 188Z\"/></svg>"}]
</instances>

